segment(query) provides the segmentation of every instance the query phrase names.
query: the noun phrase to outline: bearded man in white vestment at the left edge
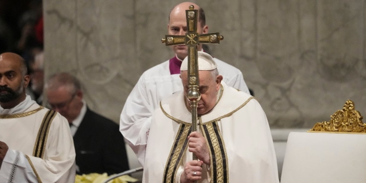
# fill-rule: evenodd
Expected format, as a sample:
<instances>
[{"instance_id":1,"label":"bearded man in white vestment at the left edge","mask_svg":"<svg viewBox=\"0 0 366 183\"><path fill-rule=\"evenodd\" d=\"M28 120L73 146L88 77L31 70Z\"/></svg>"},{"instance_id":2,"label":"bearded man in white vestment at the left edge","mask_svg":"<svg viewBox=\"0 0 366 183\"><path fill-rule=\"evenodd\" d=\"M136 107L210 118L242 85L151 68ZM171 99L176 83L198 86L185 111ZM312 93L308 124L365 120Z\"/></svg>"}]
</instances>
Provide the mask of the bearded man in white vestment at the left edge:
<instances>
[{"instance_id":1,"label":"bearded man in white vestment at the left edge","mask_svg":"<svg viewBox=\"0 0 366 183\"><path fill-rule=\"evenodd\" d=\"M0 55L0 183L74 183L68 122L25 94L26 73L19 55Z\"/></svg>"}]
</instances>

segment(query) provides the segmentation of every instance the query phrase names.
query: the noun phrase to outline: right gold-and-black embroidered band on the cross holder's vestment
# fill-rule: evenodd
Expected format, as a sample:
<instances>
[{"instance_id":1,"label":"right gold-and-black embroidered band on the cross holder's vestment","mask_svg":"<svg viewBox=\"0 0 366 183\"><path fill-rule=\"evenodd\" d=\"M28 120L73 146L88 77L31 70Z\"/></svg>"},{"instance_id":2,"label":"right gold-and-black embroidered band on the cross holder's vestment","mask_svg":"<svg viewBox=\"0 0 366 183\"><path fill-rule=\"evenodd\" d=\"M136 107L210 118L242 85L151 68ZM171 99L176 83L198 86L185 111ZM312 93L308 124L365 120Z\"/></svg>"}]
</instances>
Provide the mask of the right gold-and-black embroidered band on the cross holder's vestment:
<instances>
[{"instance_id":1,"label":"right gold-and-black embroidered band on the cross holder's vestment","mask_svg":"<svg viewBox=\"0 0 366 183\"><path fill-rule=\"evenodd\" d=\"M200 123L201 118L200 118ZM217 122L201 125L211 158L211 183L229 183L229 165L223 137Z\"/></svg>"}]
</instances>

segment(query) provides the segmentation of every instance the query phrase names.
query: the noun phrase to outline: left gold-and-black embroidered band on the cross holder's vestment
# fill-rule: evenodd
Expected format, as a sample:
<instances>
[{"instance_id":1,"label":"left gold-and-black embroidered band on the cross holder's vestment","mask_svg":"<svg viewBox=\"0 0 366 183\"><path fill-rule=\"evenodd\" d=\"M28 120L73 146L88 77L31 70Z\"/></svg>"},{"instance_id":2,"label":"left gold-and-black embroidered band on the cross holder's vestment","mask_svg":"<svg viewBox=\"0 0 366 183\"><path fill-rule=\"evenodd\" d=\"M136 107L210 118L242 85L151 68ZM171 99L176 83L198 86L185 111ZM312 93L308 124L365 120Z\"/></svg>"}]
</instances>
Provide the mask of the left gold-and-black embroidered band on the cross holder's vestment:
<instances>
[{"instance_id":1,"label":"left gold-and-black embroidered band on the cross holder's vestment","mask_svg":"<svg viewBox=\"0 0 366 183\"><path fill-rule=\"evenodd\" d=\"M164 168L163 183L173 183L175 175L182 161L182 157L187 150L188 135L192 132L192 125L183 124L179 126L179 131L174 140L174 145L169 153L169 158Z\"/></svg>"}]
</instances>

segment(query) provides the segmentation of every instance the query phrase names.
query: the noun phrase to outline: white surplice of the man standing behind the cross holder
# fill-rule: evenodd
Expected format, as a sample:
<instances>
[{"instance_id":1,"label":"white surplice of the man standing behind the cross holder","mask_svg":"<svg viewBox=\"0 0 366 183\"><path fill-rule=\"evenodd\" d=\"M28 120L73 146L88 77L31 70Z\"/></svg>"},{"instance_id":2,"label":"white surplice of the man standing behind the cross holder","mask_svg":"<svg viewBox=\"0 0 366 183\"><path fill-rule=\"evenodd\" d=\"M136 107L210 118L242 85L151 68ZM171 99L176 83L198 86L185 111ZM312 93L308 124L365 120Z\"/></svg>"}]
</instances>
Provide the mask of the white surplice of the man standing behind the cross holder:
<instances>
[{"instance_id":1,"label":"white surplice of the man standing behind the cross holder","mask_svg":"<svg viewBox=\"0 0 366 183\"><path fill-rule=\"evenodd\" d=\"M249 94L242 72L215 59L220 75L229 86ZM151 116L159 102L183 89L180 74L170 74L169 61L146 70L128 96L120 119L120 131L143 165Z\"/></svg>"}]
</instances>

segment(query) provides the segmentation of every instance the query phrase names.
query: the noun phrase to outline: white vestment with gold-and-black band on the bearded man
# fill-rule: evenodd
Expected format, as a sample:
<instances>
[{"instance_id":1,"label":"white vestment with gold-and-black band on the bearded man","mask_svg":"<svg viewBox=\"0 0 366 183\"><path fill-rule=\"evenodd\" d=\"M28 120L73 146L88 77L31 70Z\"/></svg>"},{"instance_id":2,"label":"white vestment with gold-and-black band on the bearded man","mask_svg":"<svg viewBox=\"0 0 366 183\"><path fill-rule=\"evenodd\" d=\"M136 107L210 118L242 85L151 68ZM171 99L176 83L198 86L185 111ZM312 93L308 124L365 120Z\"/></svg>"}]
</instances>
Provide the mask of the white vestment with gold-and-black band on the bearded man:
<instances>
[{"instance_id":1,"label":"white vestment with gold-and-black band on the bearded man","mask_svg":"<svg viewBox=\"0 0 366 183\"><path fill-rule=\"evenodd\" d=\"M0 107L0 141L9 147L0 183L75 182L70 127L59 113L48 111L29 96L12 109Z\"/></svg>"}]
</instances>

